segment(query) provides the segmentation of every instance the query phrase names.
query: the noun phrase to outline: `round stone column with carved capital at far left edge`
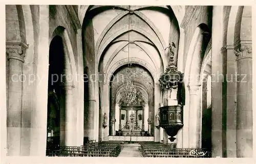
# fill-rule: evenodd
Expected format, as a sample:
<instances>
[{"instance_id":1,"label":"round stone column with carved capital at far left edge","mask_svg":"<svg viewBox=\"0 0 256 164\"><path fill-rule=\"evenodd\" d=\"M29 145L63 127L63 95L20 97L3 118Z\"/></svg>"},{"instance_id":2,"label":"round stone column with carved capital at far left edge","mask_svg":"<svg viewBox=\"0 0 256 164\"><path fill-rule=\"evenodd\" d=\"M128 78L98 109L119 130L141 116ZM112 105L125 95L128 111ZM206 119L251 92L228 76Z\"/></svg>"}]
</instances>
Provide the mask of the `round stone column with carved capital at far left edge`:
<instances>
[{"instance_id":1,"label":"round stone column with carved capital at far left edge","mask_svg":"<svg viewBox=\"0 0 256 164\"><path fill-rule=\"evenodd\" d=\"M22 87L23 63L26 49L25 43L10 43L6 45L9 60L8 104L7 104L7 154L20 155L22 142Z\"/></svg>"}]
</instances>

